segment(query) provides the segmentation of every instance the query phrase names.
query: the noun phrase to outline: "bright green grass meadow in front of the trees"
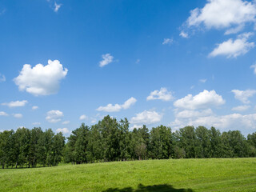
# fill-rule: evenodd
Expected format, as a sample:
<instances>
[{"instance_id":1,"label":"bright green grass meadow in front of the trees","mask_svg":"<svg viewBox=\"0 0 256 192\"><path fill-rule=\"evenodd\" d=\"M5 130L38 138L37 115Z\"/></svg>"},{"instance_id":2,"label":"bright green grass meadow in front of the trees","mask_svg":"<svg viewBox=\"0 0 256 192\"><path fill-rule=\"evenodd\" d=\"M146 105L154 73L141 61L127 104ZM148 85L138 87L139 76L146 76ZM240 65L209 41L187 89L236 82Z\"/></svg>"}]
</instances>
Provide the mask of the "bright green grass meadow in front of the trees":
<instances>
[{"instance_id":1,"label":"bright green grass meadow in front of the trees","mask_svg":"<svg viewBox=\"0 0 256 192\"><path fill-rule=\"evenodd\" d=\"M0 191L256 191L256 158L6 169L0 170Z\"/></svg>"}]
</instances>

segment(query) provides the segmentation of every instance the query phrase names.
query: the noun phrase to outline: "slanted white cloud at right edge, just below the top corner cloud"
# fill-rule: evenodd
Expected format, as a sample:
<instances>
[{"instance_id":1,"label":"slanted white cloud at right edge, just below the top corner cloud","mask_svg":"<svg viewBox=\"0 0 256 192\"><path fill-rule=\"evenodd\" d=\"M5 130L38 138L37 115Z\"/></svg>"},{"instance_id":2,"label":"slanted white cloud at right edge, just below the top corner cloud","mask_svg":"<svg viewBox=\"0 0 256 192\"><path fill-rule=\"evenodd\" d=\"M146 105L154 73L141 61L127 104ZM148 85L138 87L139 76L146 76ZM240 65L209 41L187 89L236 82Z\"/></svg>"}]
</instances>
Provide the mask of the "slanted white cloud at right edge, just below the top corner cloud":
<instances>
[{"instance_id":1,"label":"slanted white cloud at right edge, just below the top corner cloud","mask_svg":"<svg viewBox=\"0 0 256 192\"><path fill-rule=\"evenodd\" d=\"M254 48L254 42L247 42L249 36L243 34L233 40L230 38L226 42L218 44L218 46L209 54L210 57L218 55L226 56L227 58L236 58L239 55L246 54L251 48Z\"/></svg>"}]
</instances>

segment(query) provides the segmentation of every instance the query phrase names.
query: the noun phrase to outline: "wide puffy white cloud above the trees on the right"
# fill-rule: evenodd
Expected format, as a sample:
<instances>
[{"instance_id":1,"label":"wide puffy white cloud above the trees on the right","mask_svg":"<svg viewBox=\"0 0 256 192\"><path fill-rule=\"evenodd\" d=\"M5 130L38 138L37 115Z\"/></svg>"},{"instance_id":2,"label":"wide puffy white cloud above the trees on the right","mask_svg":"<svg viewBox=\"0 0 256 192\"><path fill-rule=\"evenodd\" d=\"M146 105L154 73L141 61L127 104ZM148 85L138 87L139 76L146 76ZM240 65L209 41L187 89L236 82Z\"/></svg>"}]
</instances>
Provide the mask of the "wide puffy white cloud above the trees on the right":
<instances>
[{"instance_id":1,"label":"wide puffy white cloud above the trees on the right","mask_svg":"<svg viewBox=\"0 0 256 192\"><path fill-rule=\"evenodd\" d=\"M178 99L174 102L174 106L187 110L197 110L206 109L210 106L221 106L224 103L225 100L221 95L216 94L215 90L203 90L195 96L188 94L186 97Z\"/></svg>"}]
</instances>

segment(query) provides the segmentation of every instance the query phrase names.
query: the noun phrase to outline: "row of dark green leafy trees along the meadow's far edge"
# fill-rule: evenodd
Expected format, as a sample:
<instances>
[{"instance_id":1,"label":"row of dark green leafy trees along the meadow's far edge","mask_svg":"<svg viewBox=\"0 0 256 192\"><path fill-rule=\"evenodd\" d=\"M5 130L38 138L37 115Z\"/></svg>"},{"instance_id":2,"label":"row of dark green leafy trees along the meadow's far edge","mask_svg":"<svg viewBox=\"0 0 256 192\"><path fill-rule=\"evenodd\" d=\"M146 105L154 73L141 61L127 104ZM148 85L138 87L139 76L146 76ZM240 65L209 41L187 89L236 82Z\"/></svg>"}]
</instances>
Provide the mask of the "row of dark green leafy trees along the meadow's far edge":
<instances>
[{"instance_id":1,"label":"row of dark green leafy trees along the meadow's far edge","mask_svg":"<svg viewBox=\"0 0 256 192\"><path fill-rule=\"evenodd\" d=\"M58 166L166 158L256 157L256 132L245 138L240 131L221 133L214 127L146 126L129 130L125 118L106 116L93 126L84 123L66 138L52 130L19 128L0 133L0 164L6 167Z\"/></svg>"}]
</instances>

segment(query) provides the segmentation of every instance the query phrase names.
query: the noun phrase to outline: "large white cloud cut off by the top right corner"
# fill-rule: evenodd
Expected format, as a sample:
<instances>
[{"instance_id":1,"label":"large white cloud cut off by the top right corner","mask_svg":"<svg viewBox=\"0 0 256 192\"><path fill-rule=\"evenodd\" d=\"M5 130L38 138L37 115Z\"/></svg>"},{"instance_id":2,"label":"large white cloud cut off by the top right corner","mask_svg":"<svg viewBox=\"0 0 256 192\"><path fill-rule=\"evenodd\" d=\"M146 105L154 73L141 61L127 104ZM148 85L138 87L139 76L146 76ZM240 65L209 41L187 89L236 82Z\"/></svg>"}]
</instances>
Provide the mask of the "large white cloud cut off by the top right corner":
<instances>
[{"instance_id":1,"label":"large white cloud cut off by the top right corner","mask_svg":"<svg viewBox=\"0 0 256 192\"><path fill-rule=\"evenodd\" d=\"M225 29L242 27L255 22L256 6L254 2L242 0L208 0L202 9L191 11L187 19L188 26L203 24L207 29Z\"/></svg>"}]
</instances>

